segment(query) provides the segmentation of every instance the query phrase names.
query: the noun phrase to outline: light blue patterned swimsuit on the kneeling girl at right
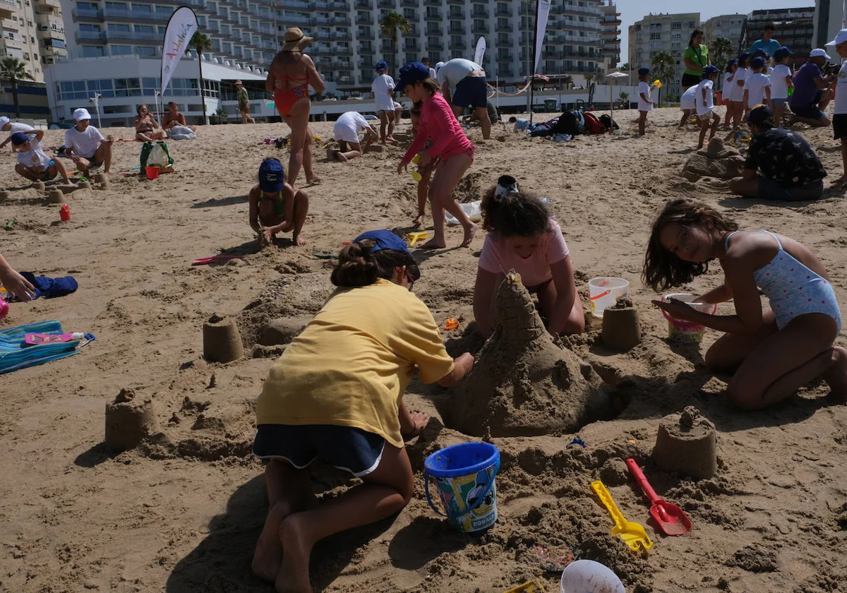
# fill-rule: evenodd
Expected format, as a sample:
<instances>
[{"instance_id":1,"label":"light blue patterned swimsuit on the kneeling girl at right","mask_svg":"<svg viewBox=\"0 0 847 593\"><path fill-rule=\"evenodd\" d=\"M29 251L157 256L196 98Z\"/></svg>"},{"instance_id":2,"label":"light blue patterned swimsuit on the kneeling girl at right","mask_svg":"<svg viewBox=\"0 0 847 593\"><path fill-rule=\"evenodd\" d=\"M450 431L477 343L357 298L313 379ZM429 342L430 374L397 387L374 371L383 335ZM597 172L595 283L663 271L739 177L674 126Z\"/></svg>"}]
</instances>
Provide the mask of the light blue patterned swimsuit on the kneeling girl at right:
<instances>
[{"instance_id":1,"label":"light blue patterned swimsuit on the kneeling girl at right","mask_svg":"<svg viewBox=\"0 0 847 593\"><path fill-rule=\"evenodd\" d=\"M782 330L791 319L806 313L824 313L835 319L840 333L841 310L833 285L785 251L783 244L771 231L759 232L772 236L779 246L779 251L771 262L753 272L756 285L771 303L771 309L777 318L777 327ZM727 236L727 249L729 237L733 235L735 233Z\"/></svg>"}]
</instances>

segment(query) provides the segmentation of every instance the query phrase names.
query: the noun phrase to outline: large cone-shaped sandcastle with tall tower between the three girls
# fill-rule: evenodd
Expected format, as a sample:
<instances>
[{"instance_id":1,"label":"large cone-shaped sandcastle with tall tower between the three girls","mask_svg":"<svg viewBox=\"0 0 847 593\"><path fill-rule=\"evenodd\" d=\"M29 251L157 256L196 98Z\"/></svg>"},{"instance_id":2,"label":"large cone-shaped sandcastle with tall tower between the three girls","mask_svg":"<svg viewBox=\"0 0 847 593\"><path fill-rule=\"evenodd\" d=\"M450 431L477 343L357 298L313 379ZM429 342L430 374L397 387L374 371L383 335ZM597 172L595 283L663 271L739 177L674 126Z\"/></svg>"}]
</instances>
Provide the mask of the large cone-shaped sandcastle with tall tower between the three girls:
<instances>
[{"instance_id":1,"label":"large cone-shaped sandcastle with tall tower between the three girls","mask_svg":"<svg viewBox=\"0 0 847 593\"><path fill-rule=\"evenodd\" d=\"M514 271L496 297L499 324L458 385L446 423L468 435L573 432L612 414L600 376L556 346Z\"/></svg>"}]
</instances>

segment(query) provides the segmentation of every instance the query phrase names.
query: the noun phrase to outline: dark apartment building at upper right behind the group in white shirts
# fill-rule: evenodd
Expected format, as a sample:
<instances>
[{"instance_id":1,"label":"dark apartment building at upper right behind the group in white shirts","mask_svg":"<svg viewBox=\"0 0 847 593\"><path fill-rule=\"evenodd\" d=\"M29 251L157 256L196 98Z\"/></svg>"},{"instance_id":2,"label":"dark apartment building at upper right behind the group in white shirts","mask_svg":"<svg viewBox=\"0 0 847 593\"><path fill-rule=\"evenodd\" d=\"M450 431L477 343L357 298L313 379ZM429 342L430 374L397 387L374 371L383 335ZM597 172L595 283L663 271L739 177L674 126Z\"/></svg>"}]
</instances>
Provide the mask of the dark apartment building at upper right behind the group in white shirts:
<instances>
[{"instance_id":1,"label":"dark apartment building at upper right behind the group in white shirts","mask_svg":"<svg viewBox=\"0 0 847 593\"><path fill-rule=\"evenodd\" d=\"M745 47L750 47L757 39L761 39L762 31L767 23L776 25L777 32L773 38L783 46L788 47L794 56L795 65L800 65L809 57L809 52L815 47L823 47L832 37L817 45L815 41L815 7L808 8L775 8L769 10L754 10L747 16L745 22ZM841 28L836 28L836 32ZM833 37L835 33L833 32ZM830 55L833 55L830 53ZM833 56L834 57L834 56Z\"/></svg>"}]
</instances>

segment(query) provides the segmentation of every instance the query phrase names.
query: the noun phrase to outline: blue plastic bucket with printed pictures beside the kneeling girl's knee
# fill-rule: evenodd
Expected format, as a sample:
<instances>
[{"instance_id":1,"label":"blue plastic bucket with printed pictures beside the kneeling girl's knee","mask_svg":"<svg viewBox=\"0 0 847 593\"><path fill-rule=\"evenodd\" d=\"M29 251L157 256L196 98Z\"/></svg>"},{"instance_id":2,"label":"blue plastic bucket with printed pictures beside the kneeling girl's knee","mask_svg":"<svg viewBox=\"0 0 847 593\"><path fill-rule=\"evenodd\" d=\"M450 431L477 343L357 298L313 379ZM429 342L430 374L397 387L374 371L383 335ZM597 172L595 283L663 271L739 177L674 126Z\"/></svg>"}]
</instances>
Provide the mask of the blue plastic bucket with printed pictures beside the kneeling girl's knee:
<instances>
[{"instance_id":1,"label":"blue plastic bucket with printed pictures beside the kneeling girl's knee","mask_svg":"<svg viewBox=\"0 0 847 593\"><path fill-rule=\"evenodd\" d=\"M495 477L500 469L500 452L490 443L448 446L426 458L424 483L429 506L460 531L488 529L497 520ZM441 513L429 497L429 477L435 478Z\"/></svg>"}]
</instances>

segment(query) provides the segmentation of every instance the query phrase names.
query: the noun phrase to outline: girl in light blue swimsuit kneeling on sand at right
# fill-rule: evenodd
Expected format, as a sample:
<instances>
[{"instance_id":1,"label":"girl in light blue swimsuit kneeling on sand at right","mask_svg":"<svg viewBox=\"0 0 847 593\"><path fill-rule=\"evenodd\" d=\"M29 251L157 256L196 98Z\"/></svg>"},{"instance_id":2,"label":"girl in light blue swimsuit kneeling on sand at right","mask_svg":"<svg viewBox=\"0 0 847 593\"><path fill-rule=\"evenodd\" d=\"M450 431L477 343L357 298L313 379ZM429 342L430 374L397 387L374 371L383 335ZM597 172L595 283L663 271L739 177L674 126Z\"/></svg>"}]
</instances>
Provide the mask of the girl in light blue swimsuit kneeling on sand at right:
<instances>
[{"instance_id":1,"label":"girl in light blue swimsuit kneeling on sand at right","mask_svg":"<svg viewBox=\"0 0 847 593\"><path fill-rule=\"evenodd\" d=\"M735 304L733 315L701 313L683 302L653 303L674 319L726 332L706 352L712 369L733 369L729 400L745 409L780 402L820 377L847 401L847 351L833 346L841 312L821 261L789 237L738 230L704 203L667 202L653 224L643 278L655 291L685 285L717 258L723 284L699 302ZM762 311L759 291L771 311Z\"/></svg>"}]
</instances>

